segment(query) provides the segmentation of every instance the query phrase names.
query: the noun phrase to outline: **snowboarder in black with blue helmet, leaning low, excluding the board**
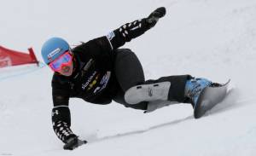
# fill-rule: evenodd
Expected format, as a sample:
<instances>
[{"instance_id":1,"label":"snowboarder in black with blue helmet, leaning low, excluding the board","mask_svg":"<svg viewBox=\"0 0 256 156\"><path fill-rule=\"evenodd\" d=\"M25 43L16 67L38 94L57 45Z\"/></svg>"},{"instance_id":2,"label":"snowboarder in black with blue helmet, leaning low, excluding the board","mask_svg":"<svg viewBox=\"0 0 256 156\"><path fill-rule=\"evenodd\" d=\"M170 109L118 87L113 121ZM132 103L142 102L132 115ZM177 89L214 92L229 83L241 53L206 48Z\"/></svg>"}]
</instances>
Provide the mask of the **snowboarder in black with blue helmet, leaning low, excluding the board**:
<instances>
[{"instance_id":1,"label":"snowboarder in black with blue helmet, leaning low, excluding the board","mask_svg":"<svg viewBox=\"0 0 256 156\"><path fill-rule=\"evenodd\" d=\"M142 20L120 26L107 36L71 49L62 38L49 38L42 47L44 62L54 71L52 78L52 124L56 136L73 149L86 143L71 130L69 98L95 104L116 101L145 113L171 102L195 105L201 90L212 84L190 75L167 76L145 81L143 67L131 49L119 49L141 36L166 14L161 7Z\"/></svg>"}]
</instances>

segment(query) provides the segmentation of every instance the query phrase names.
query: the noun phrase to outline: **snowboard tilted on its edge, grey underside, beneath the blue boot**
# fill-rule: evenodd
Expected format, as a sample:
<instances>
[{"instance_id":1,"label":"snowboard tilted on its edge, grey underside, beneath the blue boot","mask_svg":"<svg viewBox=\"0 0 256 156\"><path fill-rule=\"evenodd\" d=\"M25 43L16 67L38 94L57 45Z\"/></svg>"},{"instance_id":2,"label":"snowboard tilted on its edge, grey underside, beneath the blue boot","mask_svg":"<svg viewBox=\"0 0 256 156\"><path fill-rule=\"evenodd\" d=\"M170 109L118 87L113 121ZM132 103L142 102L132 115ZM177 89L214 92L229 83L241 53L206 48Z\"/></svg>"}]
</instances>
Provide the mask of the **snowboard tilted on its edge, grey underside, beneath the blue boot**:
<instances>
[{"instance_id":1,"label":"snowboard tilted on its edge, grey underside, beneath the blue boot","mask_svg":"<svg viewBox=\"0 0 256 156\"><path fill-rule=\"evenodd\" d=\"M194 107L194 117L201 118L207 111L224 100L230 80L225 84L213 84L201 91Z\"/></svg>"}]
</instances>

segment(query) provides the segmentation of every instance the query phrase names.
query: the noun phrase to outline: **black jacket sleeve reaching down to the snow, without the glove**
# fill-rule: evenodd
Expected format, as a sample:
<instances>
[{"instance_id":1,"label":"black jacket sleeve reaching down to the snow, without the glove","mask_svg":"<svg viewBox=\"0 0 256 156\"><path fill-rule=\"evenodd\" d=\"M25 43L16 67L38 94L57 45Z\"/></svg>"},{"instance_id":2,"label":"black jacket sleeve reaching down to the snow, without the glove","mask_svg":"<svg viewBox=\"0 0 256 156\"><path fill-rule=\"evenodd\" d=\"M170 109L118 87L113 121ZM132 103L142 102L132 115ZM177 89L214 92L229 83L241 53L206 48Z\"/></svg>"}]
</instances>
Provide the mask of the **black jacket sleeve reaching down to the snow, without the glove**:
<instances>
[{"instance_id":1,"label":"black jacket sleeve reaching down to the snow, without the glove","mask_svg":"<svg viewBox=\"0 0 256 156\"><path fill-rule=\"evenodd\" d=\"M70 129L71 118L70 110L68 108L69 100L69 85L65 82L61 84L60 78L55 75L52 80L52 96L54 107L52 109L52 125L56 136L64 142L70 137L75 136Z\"/></svg>"}]
</instances>

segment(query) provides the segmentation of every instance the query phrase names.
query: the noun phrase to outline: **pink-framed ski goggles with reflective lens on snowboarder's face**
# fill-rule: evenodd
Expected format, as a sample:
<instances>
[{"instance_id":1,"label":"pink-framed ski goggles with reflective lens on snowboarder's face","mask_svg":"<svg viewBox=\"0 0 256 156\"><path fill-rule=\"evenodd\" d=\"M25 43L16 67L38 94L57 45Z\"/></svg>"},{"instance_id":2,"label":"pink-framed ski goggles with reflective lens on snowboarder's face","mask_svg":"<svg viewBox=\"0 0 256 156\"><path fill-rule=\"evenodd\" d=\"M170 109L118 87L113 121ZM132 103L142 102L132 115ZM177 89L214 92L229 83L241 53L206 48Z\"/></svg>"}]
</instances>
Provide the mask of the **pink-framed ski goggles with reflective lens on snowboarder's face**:
<instances>
[{"instance_id":1,"label":"pink-framed ski goggles with reflective lens on snowboarder's face","mask_svg":"<svg viewBox=\"0 0 256 156\"><path fill-rule=\"evenodd\" d=\"M55 71L61 71L62 66L71 66L72 65L73 56L70 54L69 51L65 52L64 54L60 55L55 61L49 63L49 67Z\"/></svg>"}]
</instances>

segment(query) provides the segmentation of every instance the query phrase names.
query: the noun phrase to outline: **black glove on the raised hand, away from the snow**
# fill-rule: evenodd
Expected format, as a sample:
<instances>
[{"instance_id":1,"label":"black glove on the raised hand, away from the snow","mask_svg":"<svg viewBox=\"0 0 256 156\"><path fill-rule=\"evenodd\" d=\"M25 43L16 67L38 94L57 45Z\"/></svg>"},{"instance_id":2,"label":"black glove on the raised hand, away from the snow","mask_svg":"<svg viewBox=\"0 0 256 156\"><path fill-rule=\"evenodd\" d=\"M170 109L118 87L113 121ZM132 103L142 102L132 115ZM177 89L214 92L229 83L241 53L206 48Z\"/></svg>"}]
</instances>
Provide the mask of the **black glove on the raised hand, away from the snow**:
<instances>
[{"instance_id":1,"label":"black glove on the raised hand, away from the snow","mask_svg":"<svg viewBox=\"0 0 256 156\"><path fill-rule=\"evenodd\" d=\"M158 9L155 9L151 14L148 15L148 18L146 19L148 22L149 27L153 27L156 22L164 17L166 15L166 8L160 7Z\"/></svg>"}]
</instances>

